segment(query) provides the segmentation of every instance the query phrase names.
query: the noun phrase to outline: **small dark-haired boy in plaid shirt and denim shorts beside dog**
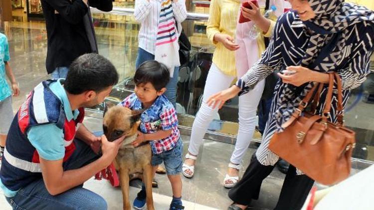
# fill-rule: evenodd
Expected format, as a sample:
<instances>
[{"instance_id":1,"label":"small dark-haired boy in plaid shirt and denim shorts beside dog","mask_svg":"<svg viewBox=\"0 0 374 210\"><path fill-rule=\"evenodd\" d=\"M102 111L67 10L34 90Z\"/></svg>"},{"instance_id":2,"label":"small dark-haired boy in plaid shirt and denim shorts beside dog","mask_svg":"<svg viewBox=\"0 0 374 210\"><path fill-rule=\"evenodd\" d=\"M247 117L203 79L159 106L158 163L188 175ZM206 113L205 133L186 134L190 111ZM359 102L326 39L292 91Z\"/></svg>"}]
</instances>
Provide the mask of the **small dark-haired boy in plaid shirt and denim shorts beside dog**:
<instances>
[{"instance_id":1,"label":"small dark-haired boy in plaid shirt and denim shorts beside dog","mask_svg":"<svg viewBox=\"0 0 374 210\"><path fill-rule=\"evenodd\" d=\"M153 175L158 165L164 162L172 184L173 200L170 210L182 210L182 153L183 142L178 130L177 112L163 95L169 82L168 68L157 61L144 62L136 71L135 94L128 96L120 105L130 109L144 109L140 119L140 130L134 146L149 141L152 148ZM143 185L134 201L135 209L146 205Z\"/></svg>"}]
</instances>

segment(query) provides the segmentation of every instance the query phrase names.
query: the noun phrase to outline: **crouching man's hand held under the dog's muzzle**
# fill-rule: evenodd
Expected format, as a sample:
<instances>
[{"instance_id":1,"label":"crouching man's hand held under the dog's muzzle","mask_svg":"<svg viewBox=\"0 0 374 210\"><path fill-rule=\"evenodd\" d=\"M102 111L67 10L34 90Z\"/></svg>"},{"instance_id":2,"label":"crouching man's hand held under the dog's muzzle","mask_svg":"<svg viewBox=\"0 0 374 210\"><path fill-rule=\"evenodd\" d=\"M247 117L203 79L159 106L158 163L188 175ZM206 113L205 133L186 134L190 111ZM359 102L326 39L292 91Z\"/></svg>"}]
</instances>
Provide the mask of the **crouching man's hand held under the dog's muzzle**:
<instances>
[{"instance_id":1,"label":"crouching man's hand held under the dog's muzzle","mask_svg":"<svg viewBox=\"0 0 374 210\"><path fill-rule=\"evenodd\" d=\"M101 136L101 151L103 153L101 157L107 161L107 165L110 165L117 156L118 150L124 139L125 136L122 136L110 142L105 135Z\"/></svg>"}]
</instances>

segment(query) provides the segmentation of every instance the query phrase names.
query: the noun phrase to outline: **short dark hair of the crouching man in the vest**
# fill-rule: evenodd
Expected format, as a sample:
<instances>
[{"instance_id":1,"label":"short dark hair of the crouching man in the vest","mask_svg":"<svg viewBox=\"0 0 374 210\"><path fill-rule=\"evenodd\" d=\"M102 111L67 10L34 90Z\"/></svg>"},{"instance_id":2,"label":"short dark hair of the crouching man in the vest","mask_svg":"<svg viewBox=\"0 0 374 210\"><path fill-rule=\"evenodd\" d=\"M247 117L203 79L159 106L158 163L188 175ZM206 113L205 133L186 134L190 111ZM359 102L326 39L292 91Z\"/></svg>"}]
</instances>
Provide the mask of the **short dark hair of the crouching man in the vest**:
<instances>
[{"instance_id":1,"label":"short dark hair of the crouching man in the vest","mask_svg":"<svg viewBox=\"0 0 374 210\"><path fill-rule=\"evenodd\" d=\"M89 53L71 63L64 83L65 90L74 95L85 91L99 93L118 83L118 73L113 64L103 56Z\"/></svg>"}]
</instances>

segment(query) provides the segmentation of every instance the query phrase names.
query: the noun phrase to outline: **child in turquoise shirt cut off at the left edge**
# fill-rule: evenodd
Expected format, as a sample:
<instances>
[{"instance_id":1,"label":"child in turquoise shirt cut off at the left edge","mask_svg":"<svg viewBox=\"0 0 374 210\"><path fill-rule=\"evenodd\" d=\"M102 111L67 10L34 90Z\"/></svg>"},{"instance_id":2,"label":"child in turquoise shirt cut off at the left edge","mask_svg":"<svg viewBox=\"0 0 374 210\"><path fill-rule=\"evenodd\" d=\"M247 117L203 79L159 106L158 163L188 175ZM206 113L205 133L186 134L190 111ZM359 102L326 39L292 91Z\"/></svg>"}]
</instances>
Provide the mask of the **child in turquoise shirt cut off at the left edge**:
<instances>
[{"instance_id":1,"label":"child in turquoise shirt cut off at the left edge","mask_svg":"<svg viewBox=\"0 0 374 210\"><path fill-rule=\"evenodd\" d=\"M17 82L9 66L9 50L6 36L0 33L0 160L4 152L6 135L13 120L11 95L19 95ZM5 74L11 83L11 89L6 82ZM1 164L1 162L0 162Z\"/></svg>"}]
</instances>

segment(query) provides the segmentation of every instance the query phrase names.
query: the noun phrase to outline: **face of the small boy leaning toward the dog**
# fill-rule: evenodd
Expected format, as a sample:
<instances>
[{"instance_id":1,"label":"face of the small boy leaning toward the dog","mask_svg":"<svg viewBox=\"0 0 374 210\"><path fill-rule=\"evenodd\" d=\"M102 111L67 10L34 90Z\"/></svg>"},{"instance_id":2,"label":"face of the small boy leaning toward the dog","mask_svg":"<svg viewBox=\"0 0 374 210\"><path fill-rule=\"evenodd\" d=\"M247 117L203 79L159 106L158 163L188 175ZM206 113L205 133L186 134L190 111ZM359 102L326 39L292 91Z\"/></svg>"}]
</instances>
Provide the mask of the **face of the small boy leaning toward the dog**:
<instances>
[{"instance_id":1,"label":"face of the small boy leaning toward the dog","mask_svg":"<svg viewBox=\"0 0 374 210\"><path fill-rule=\"evenodd\" d=\"M135 86L135 94L143 104L151 105L155 102L157 97L163 95L166 88L157 91L152 83L142 83Z\"/></svg>"}]
</instances>

